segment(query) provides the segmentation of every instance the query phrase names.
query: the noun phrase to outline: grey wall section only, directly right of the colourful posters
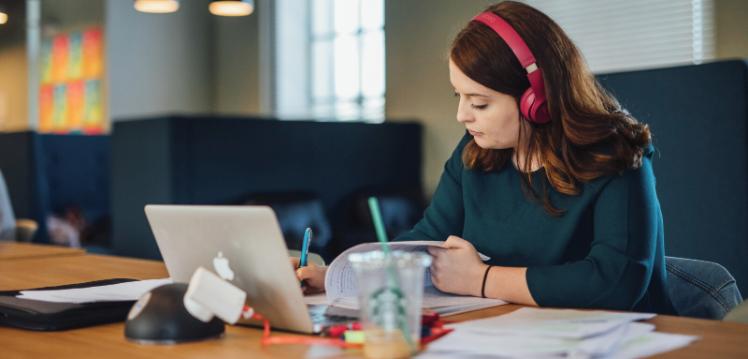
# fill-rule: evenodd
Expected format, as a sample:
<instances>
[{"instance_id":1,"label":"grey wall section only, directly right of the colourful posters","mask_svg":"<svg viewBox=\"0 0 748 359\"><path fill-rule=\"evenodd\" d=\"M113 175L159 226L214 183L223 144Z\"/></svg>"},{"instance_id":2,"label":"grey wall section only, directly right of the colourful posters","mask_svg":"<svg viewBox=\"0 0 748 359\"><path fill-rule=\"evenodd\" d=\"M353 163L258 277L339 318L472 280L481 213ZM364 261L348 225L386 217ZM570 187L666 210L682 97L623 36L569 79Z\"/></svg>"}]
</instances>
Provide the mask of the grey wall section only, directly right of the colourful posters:
<instances>
[{"instance_id":1,"label":"grey wall section only, directly right of the colourful posters","mask_svg":"<svg viewBox=\"0 0 748 359\"><path fill-rule=\"evenodd\" d=\"M213 47L208 0L181 1L178 12L137 12L132 1L107 0L109 117L209 113Z\"/></svg>"}]
</instances>

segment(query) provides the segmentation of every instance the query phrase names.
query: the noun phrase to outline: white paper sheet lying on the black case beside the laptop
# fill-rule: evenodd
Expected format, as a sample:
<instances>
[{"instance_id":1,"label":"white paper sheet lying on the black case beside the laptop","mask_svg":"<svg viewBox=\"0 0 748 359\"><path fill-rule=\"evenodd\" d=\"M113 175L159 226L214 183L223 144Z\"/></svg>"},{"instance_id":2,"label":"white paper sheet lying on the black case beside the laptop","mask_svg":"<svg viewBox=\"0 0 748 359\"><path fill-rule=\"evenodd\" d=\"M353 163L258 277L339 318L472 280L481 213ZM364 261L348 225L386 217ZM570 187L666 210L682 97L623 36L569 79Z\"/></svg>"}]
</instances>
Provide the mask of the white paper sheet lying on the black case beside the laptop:
<instances>
[{"instance_id":1,"label":"white paper sheet lying on the black case beside the laptop","mask_svg":"<svg viewBox=\"0 0 748 359\"><path fill-rule=\"evenodd\" d=\"M150 290L171 283L170 278L148 279L88 288L24 290L17 297L57 303L90 303L137 300Z\"/></svg>"}]
</instances>

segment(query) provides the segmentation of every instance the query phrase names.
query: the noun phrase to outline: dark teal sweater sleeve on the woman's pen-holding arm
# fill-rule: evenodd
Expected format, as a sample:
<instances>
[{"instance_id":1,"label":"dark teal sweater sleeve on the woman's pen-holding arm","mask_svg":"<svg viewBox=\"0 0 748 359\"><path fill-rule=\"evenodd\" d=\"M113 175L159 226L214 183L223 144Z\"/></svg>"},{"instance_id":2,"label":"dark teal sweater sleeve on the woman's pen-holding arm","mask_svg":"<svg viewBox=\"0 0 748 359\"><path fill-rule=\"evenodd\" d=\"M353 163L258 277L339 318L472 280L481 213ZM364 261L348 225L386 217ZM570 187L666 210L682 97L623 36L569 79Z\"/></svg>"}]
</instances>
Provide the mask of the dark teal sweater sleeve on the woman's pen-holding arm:
<instances>
[{"instance_id":1,"label":"dark teal sweater sleeve on the woman's pen-holding arm","mask_svg":"<svg viewBox=\"0 0 748 359\"><path fill-rule=\"evenodd\" d=\"M395 238L396 241L444 241L450 235L462 234L465 215L462 202L462 149L470 138L465 135L444 164L444 172L423 218L412 230Z\"/></svg>"}]
</instances>

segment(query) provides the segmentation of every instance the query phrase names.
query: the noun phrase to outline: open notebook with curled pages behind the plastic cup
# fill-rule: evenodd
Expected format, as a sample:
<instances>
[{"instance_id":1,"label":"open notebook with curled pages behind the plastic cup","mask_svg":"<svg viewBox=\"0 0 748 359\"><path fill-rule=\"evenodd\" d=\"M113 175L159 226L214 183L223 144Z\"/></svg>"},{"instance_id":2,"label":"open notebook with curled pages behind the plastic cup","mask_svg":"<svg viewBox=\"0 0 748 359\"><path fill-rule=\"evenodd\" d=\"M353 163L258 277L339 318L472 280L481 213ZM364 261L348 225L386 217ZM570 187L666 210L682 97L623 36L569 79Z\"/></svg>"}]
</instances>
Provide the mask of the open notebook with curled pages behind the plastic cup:
<instances>
[{"instance_id":1,"label":"open notebook with curled pages behind the plastic cup","mask_svg":"<svg viewBox=\"0 0 748 359\"><path fill-rule=\"evenodd\" d=\"M390 248L405 252L426 252L429 246L440 247L443 242L439 241L409 241L391 242ZM351 247L335 258L327 268L325 276L324 302L330 308L328 313L337 315L357 316L358 314L358 291L356 274L353 265L348 261L348 255L356 252L367 252L380 249L379 243L364 243ZM489 258L480 254L481 260ZM309 298L308 303L320 303L320 297ZM431 283L431 272L427 268L424 274L423 308L433 310L441 315L457 314L478 310L497 305L506 304L498 299L478 298L470 296L459 296L439 291Z\"/></svg>"}]
</instances>

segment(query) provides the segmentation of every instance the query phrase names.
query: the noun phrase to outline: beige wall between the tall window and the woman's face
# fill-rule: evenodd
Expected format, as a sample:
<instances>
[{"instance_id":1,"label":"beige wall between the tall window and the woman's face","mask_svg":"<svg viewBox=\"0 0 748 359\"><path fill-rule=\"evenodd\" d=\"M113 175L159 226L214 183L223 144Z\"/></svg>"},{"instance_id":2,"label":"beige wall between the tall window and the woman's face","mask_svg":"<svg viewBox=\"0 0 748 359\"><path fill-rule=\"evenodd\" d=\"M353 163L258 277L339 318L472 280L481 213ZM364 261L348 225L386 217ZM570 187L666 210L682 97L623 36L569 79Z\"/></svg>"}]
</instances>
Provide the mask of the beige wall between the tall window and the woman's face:
<instances>
[{"instance_id":1,"label":"beige wall between the tall window and the woman's face","mask_svg":"<svg viewBox=\"0 0 748 359\"><path fill-rule=\"evenodd\" d=\"M457 32L491 1L387 0L385 43L390 119L417 119L424 126L423 177L431 196L444 162L464 134L457 123L447 59Z\"/></svg>"}]
</instances>

